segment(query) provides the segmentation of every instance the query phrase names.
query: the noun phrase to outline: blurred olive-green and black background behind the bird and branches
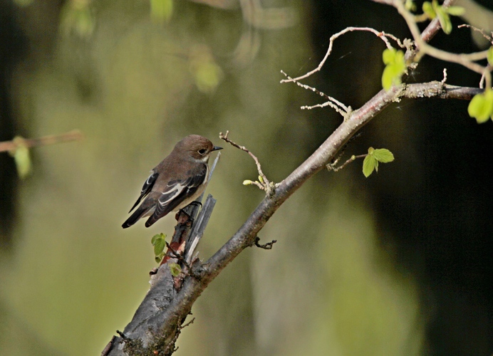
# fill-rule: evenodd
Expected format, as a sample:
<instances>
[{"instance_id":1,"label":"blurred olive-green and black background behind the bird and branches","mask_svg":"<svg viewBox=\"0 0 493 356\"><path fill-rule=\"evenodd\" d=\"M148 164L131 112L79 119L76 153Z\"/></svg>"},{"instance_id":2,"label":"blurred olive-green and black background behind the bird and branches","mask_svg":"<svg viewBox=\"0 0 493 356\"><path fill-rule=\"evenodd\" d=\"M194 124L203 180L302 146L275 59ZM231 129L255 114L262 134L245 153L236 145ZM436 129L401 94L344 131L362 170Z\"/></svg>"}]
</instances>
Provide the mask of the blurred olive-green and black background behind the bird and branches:
<instances>
[{"instance_id":1,"label":"blurred olive-green and black background behind the bird and branches","mask_svg":"<svg viewBox=\"0 0 493 356\"><path fill-rule=\"evenodd\" d=\"M225 147L201 258L222 246L263 194L242 186L254 162L219 132L284 179L341 117L300 110L323 98L279 84L280 70L315 68L346 26L408 36L371 1L1 1L0 141L85 139L34 148L22 181L0 153L0 354L99 355L123 330L155 266L150 238L175 221L120 226L149 170L192 133ZM470 36L433 44L477 51ZM380 90L383 48L348 33L306 83L358 108ZM409 81L441 80L444 66L448 83L477 86L428 58ZM244 251L197 300L177 355L491 355L492 137L466 102L385 110L346 157L385 147L395 162L301 187L261 231L274 248Z\"/></svg>"}]
</instances>

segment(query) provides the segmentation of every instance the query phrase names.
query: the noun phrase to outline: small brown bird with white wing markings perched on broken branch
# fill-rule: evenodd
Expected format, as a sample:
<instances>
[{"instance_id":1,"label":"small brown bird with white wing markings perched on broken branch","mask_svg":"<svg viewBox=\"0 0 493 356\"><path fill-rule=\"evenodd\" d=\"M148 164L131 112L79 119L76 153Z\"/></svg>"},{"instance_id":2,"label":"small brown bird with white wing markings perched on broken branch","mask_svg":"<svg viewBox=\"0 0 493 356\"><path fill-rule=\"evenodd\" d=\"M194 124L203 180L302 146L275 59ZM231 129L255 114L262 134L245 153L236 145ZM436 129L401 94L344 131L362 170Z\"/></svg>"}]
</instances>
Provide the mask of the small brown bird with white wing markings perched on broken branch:
<instances>
[{"instance_id":1,"label":"small brown bird with white wing markings perched on broken branch","mask_svg":"<svg viewBox=\"0 0 493 356\"><path fill-rule=\"evenodd\" d=\"M152 169L135 204L138 208L123 223L123 229L150 216L145 227L170 213L180 211L199 197L209 177L209 157L222 150L200 135L189 135L175 145L170 155Z\"/></svg>"}]
</instances>

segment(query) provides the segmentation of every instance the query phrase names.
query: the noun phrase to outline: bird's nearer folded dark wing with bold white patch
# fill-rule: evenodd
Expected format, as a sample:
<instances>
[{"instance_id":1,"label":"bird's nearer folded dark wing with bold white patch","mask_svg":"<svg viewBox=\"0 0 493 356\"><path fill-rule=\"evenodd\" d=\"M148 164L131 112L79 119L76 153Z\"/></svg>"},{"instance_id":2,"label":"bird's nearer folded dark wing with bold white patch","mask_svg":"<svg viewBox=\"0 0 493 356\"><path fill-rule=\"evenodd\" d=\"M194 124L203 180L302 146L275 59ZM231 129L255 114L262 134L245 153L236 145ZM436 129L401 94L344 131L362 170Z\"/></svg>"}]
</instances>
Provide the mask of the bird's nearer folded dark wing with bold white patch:
<instances>
[{"instance_id":1,"label":"bird's nearer folded dark wing with bold white patch","mask_svg":"<svg viewBox=\"0 0 493 356\"><path fill-rule=\"evenodd\" d=\"M196 172L193 172L186 179L176 179L166 184L166 189L157 199L156 209L152 216L147 220L145 226L150 226L173 211L183 201L192 197L207 176L207 165L202 164Z\"/></svg>"}]
</instances>

